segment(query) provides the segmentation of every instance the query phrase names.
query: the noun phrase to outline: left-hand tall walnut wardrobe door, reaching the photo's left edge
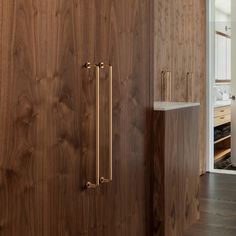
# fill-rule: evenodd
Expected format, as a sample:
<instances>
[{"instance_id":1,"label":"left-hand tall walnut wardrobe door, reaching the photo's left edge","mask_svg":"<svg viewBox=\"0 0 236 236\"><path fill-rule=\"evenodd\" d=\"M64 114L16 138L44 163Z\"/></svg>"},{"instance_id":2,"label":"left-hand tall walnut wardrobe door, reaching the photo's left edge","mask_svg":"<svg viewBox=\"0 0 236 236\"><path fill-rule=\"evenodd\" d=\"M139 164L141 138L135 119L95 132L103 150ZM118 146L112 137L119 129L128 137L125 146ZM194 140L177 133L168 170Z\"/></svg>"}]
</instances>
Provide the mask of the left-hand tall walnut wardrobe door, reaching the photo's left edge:
<instances>
[{"instance_id":1,"label":"left-hand tall walnut wardrobe door, reaching the photo's left edge","mask_svg":"<svg viewBox=\"0 0 236 236\"><path fill-rule=\"evenodd\" d=\"M95 72L82 68L95 59L95 2L0 1L1 236L103 227L83 189L95 180Z\"/></svg>"}]
</instances>

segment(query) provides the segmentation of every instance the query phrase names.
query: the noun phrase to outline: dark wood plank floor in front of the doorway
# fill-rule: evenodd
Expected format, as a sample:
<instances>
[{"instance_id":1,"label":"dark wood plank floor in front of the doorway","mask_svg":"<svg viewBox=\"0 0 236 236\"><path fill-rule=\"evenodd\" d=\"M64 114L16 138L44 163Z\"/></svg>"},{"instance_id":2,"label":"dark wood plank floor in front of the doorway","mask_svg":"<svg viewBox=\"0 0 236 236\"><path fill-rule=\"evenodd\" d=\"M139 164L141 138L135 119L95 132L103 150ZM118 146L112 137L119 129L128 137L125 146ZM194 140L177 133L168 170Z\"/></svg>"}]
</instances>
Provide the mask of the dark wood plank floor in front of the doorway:
<instances>
[{"instance_id":1,"label":"dark wood plank floor in front of the doorway","mask_svg":"<svg viewBox=\"0 0 236 236\"><path fill-rule=\"evenodd\" d=\"M201 177L201 219L185 236L236 236L236 175Z\"/></svg>"}]
</instances>

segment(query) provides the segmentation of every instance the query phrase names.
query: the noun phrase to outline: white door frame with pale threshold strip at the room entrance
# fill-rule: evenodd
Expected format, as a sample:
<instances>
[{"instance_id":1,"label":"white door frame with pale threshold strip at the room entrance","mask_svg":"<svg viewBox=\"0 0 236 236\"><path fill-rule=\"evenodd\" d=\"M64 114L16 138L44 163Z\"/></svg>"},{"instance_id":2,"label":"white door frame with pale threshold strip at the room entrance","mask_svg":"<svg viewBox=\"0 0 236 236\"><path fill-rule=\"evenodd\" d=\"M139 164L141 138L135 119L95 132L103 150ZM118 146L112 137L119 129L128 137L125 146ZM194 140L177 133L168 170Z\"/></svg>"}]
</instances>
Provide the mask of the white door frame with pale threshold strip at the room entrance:
<instances>
[{"instance_id":1,"label":"white door frame with pale threshold strip at the room entrance","mask_svg":"<svg viewBox=\"0 0 236 236\"><path fill-rule=\"evenodd\" d=\"M214 121L214 106L213 106L213 87L215 78L215 0L206 1L206 35L207 35L207 48L206 48L206 58L207 58L207 71L206 71L206 90L207 90L207 102L206 102L206 114L207 114L207 160L206 160L206 170L211 173L220 174L233 174L236 175L236 171L231 170L218 170L214 168L214 132L213 132L213 121Z\"/></svg>"}]
</instances>

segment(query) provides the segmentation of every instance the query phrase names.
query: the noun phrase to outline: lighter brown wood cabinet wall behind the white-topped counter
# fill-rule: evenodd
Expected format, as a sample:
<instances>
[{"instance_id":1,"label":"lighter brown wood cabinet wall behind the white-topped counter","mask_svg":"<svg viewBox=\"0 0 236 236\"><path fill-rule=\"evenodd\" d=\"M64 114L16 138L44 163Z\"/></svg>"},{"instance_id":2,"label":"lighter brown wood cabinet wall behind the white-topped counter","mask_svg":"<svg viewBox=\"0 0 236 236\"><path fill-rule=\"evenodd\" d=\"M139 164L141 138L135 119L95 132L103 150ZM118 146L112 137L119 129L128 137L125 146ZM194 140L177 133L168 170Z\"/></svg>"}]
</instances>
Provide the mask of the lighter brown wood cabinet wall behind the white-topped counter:
<instances>
[{"instance_id":1,"label":"lighter brown wood cabinet wall behind the white-topped counter","mask_svg":"<svg viewBox=\"0 0 236 236\"><path fill-rule=\"evenodd\" d=\"M172 101L200 102L200 173L206 171L206 5L204 0L154 1L154 98L161 100L161 72L172 72Z\"/></svg>"}]
</instances>

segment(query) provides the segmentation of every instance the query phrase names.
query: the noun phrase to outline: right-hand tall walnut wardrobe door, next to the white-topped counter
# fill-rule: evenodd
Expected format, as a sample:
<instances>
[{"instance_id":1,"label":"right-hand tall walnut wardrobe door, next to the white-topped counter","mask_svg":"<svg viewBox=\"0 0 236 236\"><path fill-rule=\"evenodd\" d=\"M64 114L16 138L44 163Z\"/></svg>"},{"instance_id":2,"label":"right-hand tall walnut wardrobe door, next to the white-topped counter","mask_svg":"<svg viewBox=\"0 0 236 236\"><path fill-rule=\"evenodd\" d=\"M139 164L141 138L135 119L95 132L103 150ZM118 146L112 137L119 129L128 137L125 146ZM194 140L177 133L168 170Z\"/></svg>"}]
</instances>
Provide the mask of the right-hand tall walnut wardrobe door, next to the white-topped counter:
<instances>
[{"instance_id":1,"label":"right-hand tall walnut wardrobe door, next to the white-topped counter","mask_svg":"<svg viewBox=\"0 0 236 236\"><path fill-rule=\"evenodd\" d=\"M101 186L101 235L149 235L149 1L96 3L96 61L113 67L113 181ZM108 176L108 68L101 69L100 172ZM153 89L153 88L151 88Z\"/></svg>"}]
</instances>

